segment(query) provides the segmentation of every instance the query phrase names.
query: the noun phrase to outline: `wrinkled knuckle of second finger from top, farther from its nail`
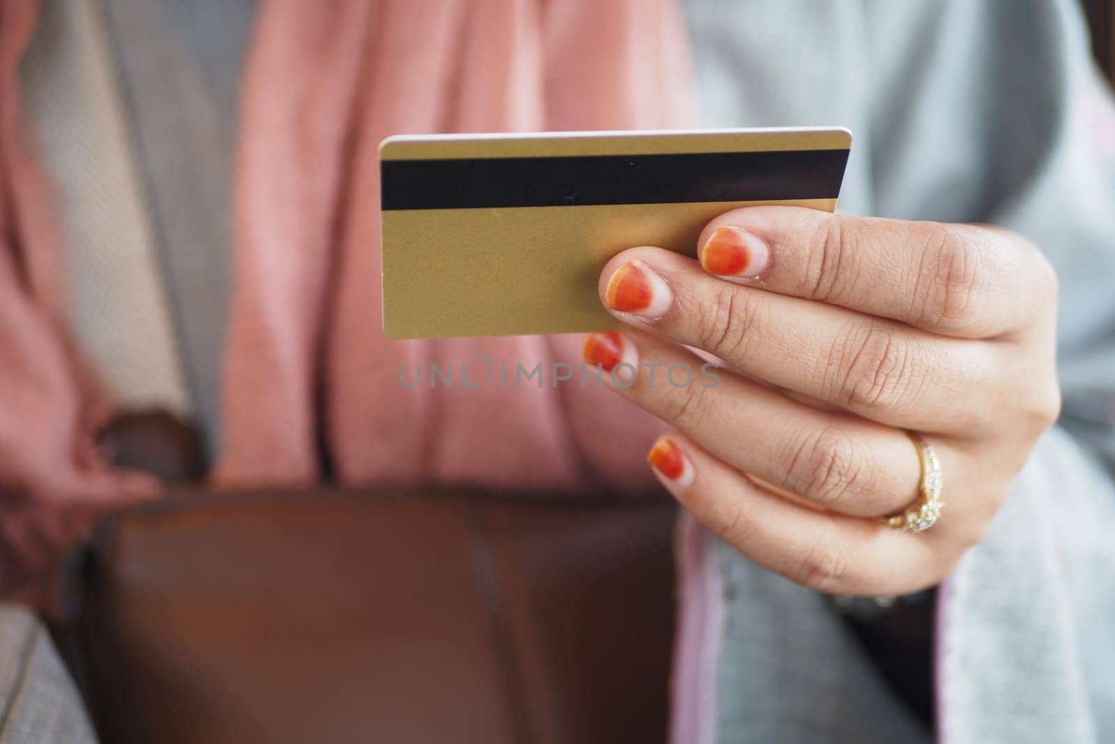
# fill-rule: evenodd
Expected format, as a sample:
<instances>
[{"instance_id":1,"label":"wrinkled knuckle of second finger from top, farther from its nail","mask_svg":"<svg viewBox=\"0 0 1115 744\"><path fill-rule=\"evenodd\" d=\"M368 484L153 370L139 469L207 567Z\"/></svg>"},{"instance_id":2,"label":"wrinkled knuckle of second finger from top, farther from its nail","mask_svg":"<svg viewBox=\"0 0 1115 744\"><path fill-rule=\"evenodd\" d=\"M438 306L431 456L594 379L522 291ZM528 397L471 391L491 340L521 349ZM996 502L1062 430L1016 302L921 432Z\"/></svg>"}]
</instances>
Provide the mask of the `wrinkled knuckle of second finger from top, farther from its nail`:
<instances>
[{"instance_id":1,"label":"wrinkled knuckle of second finger from top, farther from its nail","mask_svg":"<svg viewBox=\"0 0 1115 744\"><path fill-rule=\"evenodd\" d=\"M914 349L893 328L873 323L844 334L826 368L834 376L824 387L830 399L853 409L901 408L924 386Z\"/></svg>"}]
</instances>

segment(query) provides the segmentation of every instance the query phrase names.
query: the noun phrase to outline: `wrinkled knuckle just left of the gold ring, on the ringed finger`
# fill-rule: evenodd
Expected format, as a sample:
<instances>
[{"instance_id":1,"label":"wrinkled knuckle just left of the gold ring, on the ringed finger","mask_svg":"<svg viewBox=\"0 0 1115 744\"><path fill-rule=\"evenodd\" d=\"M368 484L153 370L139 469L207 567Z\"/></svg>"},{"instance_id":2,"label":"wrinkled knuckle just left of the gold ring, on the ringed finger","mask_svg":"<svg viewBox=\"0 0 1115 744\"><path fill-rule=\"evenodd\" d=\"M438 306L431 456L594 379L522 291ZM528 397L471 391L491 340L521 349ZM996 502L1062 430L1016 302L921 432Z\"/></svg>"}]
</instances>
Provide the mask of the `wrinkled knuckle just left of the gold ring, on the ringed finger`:
<instances>
[{"instance_id":1,"label":"wrinkled knuckle just left of the gold ring, on the ringed finger","mask_svg":"<svg viewBox=\"0 0 1115 744\"><path fill-rule=\"evenodd\" d=\"M814 429L793 446L787 485L811 501L838 503L869 482L865 461L862 448L844 434L830 427Z\"/></svg>"}]
</instances>

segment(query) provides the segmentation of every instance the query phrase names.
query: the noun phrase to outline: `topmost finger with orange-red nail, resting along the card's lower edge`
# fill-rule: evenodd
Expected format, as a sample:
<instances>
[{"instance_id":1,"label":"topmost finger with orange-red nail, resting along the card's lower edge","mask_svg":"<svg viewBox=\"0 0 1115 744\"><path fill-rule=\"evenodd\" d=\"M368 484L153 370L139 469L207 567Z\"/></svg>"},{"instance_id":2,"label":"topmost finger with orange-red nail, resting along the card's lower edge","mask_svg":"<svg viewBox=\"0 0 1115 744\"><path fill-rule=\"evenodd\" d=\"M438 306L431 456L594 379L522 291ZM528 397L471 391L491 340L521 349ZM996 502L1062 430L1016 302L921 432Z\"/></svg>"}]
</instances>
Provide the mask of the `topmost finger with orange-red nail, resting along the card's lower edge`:
<instances>
[{"instance_id":1,"label":"topmost finger with orange-red nail, resting along the card's lower edge","mask_svg":"<svg viewBox=\"0 0 1115 744\"><path fill-rule=\"evenodd\" d=\"M710 222L698 245L724 279L960 338L1027 325L1031 291L1053 289L1036 248L973 225L749 206Z\"/></svg>"}]
</instances>

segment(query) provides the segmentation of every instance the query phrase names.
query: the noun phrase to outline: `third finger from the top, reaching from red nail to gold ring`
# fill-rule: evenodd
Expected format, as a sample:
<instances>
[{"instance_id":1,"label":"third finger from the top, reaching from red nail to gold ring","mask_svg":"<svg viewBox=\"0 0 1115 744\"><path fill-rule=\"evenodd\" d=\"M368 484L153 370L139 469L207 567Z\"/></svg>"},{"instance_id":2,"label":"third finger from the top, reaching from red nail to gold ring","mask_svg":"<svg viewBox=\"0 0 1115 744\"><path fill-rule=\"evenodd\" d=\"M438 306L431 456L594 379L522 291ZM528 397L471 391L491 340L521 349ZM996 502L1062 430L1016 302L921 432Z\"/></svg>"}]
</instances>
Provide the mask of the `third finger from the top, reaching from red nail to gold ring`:
<instances>
[{"instance_id":1,"label":"third finger from the top, reaching from red nail to gold ring","mask_svg":"<svg viewBox=\"0 0 1115 744\"><path fill-rule=\"evenodd\" d=\"M826 412L745 380L648 334L593 334L585 359L621 395L707 452L775 489L855 515L901 511L918 496L917 451L902 432Z\"/></svg>"}]
</instances>

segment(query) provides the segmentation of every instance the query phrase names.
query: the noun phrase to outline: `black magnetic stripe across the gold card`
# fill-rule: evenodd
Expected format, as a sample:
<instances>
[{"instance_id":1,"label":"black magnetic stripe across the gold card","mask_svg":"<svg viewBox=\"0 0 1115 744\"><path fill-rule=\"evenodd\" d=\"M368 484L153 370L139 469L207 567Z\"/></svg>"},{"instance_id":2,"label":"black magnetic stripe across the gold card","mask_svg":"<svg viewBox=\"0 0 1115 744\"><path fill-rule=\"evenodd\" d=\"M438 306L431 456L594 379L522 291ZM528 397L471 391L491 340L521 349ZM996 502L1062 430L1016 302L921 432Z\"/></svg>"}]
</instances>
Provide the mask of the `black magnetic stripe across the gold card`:
<instances>
[{"instance_id":1,"label":"black magnetic stripe across the gold card","mask_svg":"<svg viewBox=\"0 0 1115 744\"><path fill-rule=\"evenodd\" d=\"M847 149L384 161L385 210L836 199Z\"/></svg>"}]
</instances>

